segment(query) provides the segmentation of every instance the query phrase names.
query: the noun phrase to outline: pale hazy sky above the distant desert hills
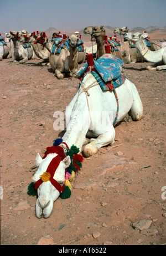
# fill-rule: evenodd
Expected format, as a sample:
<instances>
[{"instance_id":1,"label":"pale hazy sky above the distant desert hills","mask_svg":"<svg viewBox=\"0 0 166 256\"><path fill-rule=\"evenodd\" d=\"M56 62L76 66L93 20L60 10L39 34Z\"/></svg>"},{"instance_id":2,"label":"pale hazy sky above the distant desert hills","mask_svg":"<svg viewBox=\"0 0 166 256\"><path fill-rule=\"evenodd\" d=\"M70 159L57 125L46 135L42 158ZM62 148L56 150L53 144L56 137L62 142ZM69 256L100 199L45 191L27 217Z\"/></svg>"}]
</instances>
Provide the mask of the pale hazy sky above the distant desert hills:
<instances>
[{"instance_id":1,"label":"pale hazy sky above the distant desert hills","mask_svg":"<svg viewBox=\"0 0 166 256\"><path fill-rule=\"evenodd\" d=\"M166 0L0 0L0 33L166 25Z\"/></svg>"}]
</instances>

